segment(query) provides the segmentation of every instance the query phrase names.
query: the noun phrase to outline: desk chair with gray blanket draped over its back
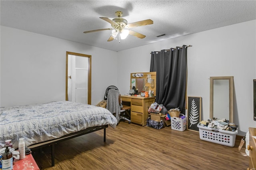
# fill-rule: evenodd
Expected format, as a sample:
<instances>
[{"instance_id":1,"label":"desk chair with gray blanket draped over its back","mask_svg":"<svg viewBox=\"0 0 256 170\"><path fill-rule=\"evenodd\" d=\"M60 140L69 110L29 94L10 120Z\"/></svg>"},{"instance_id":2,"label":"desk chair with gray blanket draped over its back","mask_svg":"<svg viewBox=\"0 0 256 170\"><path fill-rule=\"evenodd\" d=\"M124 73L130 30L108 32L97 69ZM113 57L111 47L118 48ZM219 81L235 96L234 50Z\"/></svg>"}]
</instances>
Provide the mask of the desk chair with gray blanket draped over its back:
<instances>
[{"instance_id":1,"label":"desk chair with gray blanket draped over its back","mask_svg":"<svg viewBox=\"0 0 256 170\"><path fill-rule=\"evenodd\" d=\"M128 113L127 111L130 110L131 107L122 105L121 95L118 90L110 89L108 91L106 109L108 109L112 114L116 114L116 119L118 123L121 119L128 121L129 124L131 123L128 118L124 117L124 114ZM130 117L129 114L128 116Z\"/></svg>"}]
</instances>

